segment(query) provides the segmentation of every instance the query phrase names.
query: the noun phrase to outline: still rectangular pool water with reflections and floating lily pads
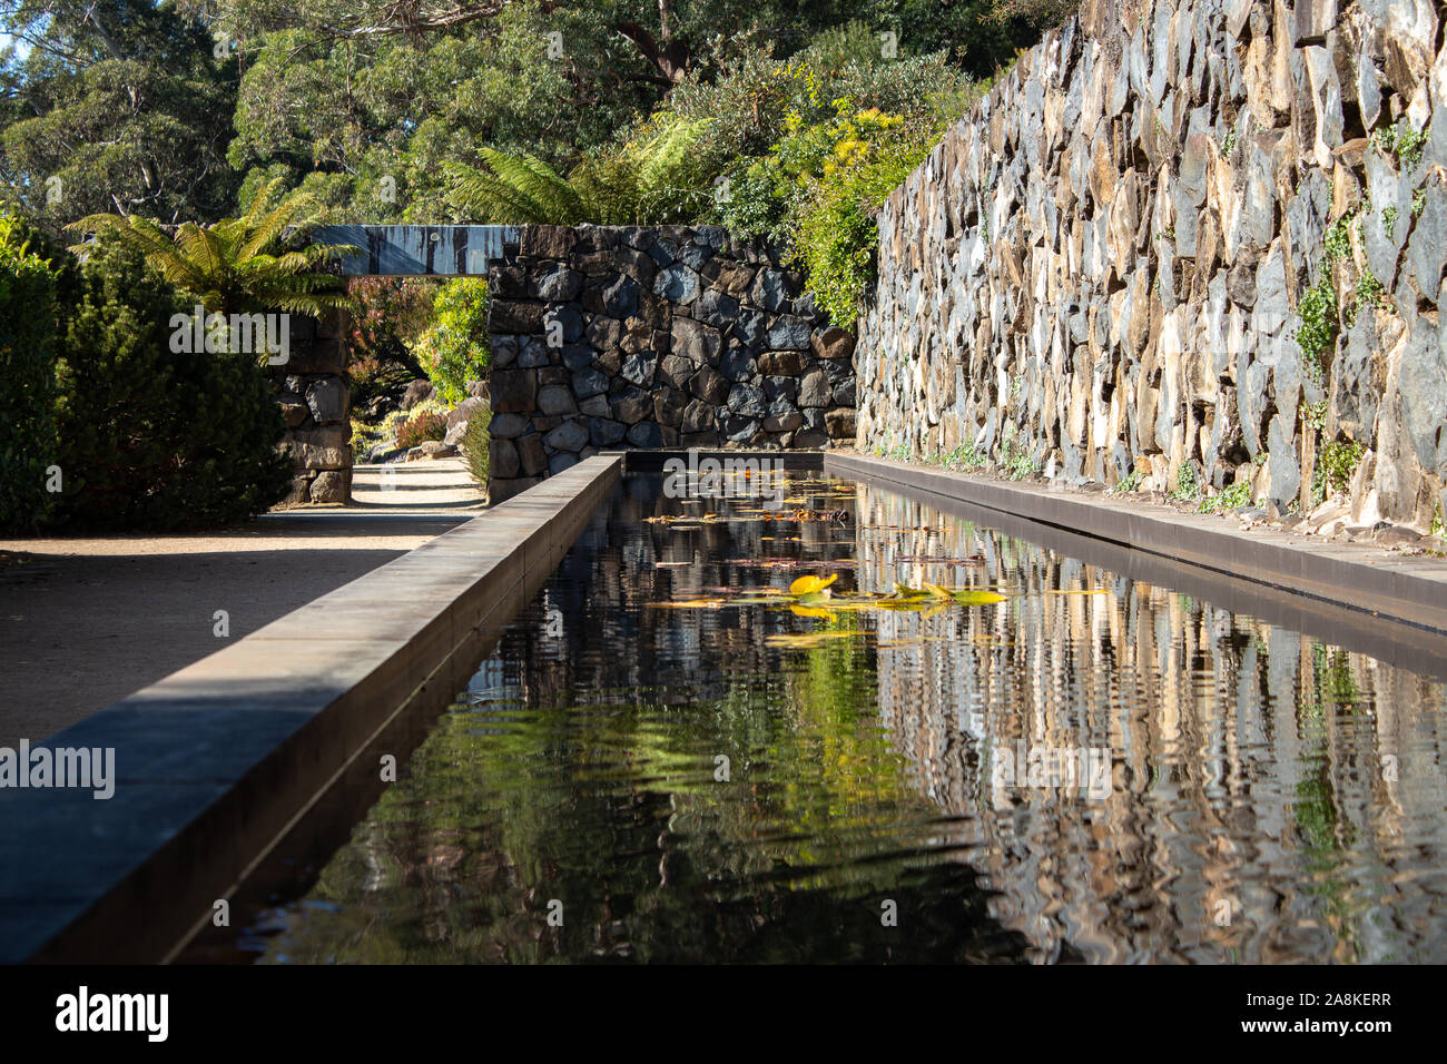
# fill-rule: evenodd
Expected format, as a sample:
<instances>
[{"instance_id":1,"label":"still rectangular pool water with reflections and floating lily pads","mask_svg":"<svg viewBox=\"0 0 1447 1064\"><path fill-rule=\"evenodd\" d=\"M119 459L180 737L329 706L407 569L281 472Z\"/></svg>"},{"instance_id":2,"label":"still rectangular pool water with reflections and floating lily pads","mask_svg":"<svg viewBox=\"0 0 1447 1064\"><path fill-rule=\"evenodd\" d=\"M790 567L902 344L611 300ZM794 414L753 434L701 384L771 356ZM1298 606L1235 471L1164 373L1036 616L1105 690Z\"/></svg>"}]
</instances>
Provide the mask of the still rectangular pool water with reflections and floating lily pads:
<instances>
[{"instance_id":1,"label":"still rectangular pool water with reflections and floating lily pads","mask_svg":"<svg viewBox=\"0 0 1447 1064\"><path fill-rule=\"evenodd\" d=\"M757 484L628 478L245 948L1447 960L1440 680L878 488Z\"/></svg>"}]
</instances>

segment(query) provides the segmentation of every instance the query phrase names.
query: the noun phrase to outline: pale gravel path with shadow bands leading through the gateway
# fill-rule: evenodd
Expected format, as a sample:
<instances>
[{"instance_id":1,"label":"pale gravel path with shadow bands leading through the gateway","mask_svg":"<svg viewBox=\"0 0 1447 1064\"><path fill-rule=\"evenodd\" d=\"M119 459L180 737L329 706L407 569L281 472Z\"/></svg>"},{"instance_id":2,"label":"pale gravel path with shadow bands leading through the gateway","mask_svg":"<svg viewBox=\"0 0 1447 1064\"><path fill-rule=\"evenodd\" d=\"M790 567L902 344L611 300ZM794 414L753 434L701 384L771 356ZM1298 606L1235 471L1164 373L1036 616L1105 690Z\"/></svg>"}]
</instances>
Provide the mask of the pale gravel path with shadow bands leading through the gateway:
<instances>
[{"instance_id":1,"label":"pale gravel path with shadow bands leading through the gateway","mask_svg":"<svg viewBox=\"0 0 1447 1064\"><path fill-rule=\"evenodd\" d=\"M460 459L357 466L352 494L205 534L0 540L0 556L25 556L0 567L0 747L46 738L483 510Z\"/></svg>"}]
</instances>

